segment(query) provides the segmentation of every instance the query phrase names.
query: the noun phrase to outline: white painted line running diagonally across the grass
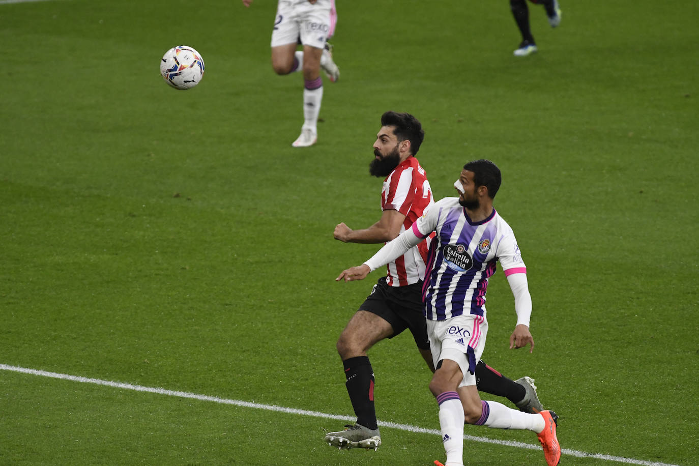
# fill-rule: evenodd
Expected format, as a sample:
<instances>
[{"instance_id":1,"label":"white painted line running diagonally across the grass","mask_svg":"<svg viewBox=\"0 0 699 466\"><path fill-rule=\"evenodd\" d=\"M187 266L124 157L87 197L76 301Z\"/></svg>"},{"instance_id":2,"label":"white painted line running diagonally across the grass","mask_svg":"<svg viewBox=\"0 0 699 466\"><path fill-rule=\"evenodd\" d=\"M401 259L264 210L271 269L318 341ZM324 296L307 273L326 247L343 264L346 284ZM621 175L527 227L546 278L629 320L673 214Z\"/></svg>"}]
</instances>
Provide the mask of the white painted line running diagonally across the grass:
<instances>
[{"instance_id":1,"label":"white painted line running diagonally across the grass","mask_svg":"<svg viewBox=\"0 0 699 466\"><path fill-rule=\"evenodd\" d=\"M226 398L219 398L217 396L198 395L196 393L189 393L189 392L185 392L185 391L166 390L165 388L153 388L153 387L146 387L146 386L140 386L140 385L124 384L122 382L114 382L114 381L101 380L101 379L88 379L87 377L78 377L78 376L69 375L69 374L59 374L57 372L46 372L43 370L27 369L25 367L17 367L17 366L13 366L13 365L0 364L0 370L9 370L12 372L20 372L22 374L39 375L41 377L51 377L52 379L70 380L70 381L74 381L74 382L81 382L83 384L95 384L95 385L109 386L109 387L113 387L113 388L121 388L122 390L143 391L143 392L147 392L147 393L157 393L158 395L177 396L180 398L191 398L192 400L210 401L210 402L220 403L222 405L234 405L234 406L240 406L240 407L245 407L245 408L266 409L267 411L275 411L275 412L281 412L281 413L286 413L286 414L300 414L301 416L312 416L312 417L317 417L317 418L336 419L337 421L354 421L354 417L340 416L339 414L327 414L327 413L322 413L322 412L318 412L318 411L308 411L306 409L287 408L287 407L276 406L276 405L261 405L259 403L243 401L243 400L227 400ZM398 430L405 430L408 432L417 432L417 433L424 433L424 434L441 436L441 432L439 430L421 428L421 427L417 427L415 425L397 424L397 423L385 422L385 421L380 421L379 425L382 427L391 428L391 429L398 429ZM469 440L471 442L481 442L481 443L487 443L487 444L514 446L515 448L519 448L519 449L527 449L527 450L539 450L539 449L541 449L541 446L539 446L539 445L526 444L524 442L514 442L514 441L508 441L508 440L489 439L486 437L475 437L474 435L464 435L463 438L465 440ZM652 461L635 460L633 458L624 458L621 456L603 455L601 453L587 453L586 451L577 451L577 450L571 450L571 449L561 449L561 453L563 453L563 455L575 456L577 458L596 458L599 460L616 461L617 463L625 463L627 465L679 466L679 465L672 465L672 464L668 464L668 463L654 463Z\"/></svg>"}]
</instances>

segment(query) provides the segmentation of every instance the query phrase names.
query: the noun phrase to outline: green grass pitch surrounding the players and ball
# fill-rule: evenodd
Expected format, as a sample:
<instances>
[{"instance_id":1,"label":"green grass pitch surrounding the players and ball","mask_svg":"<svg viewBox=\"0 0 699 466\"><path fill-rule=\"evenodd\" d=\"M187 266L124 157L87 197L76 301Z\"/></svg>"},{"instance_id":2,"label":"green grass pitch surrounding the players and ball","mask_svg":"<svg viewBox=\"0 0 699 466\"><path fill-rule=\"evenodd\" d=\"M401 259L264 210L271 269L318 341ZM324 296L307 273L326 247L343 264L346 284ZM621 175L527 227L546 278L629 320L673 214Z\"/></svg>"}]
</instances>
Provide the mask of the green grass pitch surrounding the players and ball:
<instances>
[{"instance_id":1,"label":"green grass pitch surrounding the players and ball","mask_svg":"<svg viewBox=\"0 0 699 466\"><path fill-rule=\"evenodd\" d=\"M565 465L699 465L699 6L561 0L539 53L512 57L506 0L338 0L317 145L301 75L273 73L275 1L0 2L0 365L349 416L335 341L379 277L368 175L385 110L424 124L436 198L463 163L503 170L498 212L533 296L533 354L507 349L491 279L485 360L537 381ZM206 61L187 92L162 54ZM370 351L381 421L438 429L410 335ZM431 465L437 435L0 370L0 464ZM535 444L531 432L466 434ZM467 441L469 465L540 465ZM634 463L635 462L635 463ZM645 463L643 463L645 462Z\"/></svg>"}]
</instances>

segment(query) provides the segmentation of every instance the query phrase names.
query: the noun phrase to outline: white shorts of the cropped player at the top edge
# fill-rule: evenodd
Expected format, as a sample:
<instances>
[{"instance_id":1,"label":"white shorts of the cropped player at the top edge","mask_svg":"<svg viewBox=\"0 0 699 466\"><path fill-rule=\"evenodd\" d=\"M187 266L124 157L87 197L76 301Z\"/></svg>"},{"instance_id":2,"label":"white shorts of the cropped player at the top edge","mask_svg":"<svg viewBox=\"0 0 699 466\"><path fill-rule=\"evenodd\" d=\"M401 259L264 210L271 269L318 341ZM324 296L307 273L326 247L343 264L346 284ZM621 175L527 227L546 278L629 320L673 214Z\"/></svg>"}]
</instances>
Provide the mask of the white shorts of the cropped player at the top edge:
<instances>
[{"instance_id":1,"label":"white shorts of the cropped player at the top edge","mask_svg":"<svg viewBox=\"0 0 699 466\"><path fill-rule=\"evenodd\" d=\"M324 48L331 35L331 0L279 0L272 47L298 43ZM333 24L334 29L334 24Z\"/></svg>"}]
</instances>

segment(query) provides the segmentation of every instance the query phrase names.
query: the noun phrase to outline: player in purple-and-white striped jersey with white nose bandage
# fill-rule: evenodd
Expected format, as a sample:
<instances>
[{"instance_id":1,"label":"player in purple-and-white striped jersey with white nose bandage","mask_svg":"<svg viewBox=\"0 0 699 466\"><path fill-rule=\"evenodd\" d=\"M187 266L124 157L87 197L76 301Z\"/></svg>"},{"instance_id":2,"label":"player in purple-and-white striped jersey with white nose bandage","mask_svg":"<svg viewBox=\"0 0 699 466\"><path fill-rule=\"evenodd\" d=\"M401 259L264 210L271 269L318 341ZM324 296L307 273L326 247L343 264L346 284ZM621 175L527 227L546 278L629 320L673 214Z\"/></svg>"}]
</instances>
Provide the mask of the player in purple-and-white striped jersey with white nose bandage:
<instances>
[{"instance_id":1,"label":"player in purple-and-white striped jersey with white nose bandage","mask_svg":"<svg viewBox=\"0 0 699 466\"><path fill-rule=\"evenodd\" d=\"M427 208L422 217L398 238L382 247L362 265L343 270L338 280L363 279L433 231L428 273L423 286L424 312L434 358L430 390L439 405L442 441L447 466L463 465L463 423L491 428L526 429L538 434L549 466L558 465L561 448L556 419L551 411L528 414L478 395L475 367L485 347L488 323L485 295L488 279L500 262L514 294L517 326L510 348L526 347L534 340L529 332L531 296L526 266L512 228L493 208L500 187L500 170L487 160L466 163L454 187L459 198L444 198ZM441 465L438 461L435 464Z\"/></svg>"}]
</instances>

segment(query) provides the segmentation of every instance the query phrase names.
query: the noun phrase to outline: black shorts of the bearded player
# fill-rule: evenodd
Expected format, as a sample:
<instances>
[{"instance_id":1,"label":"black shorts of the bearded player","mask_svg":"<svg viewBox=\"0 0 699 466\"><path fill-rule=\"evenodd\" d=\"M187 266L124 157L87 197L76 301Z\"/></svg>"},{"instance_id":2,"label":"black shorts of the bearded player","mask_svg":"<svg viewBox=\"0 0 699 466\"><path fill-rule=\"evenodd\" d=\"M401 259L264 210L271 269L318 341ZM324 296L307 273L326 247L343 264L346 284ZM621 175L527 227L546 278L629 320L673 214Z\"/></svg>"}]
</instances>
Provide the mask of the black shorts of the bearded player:
<instances>
[{"instance_id":1,"label":"black shorts of the bearded player","mask_svg":"<svg viewBox=\"0 0 699 466\"><path fill-rule=\"evenodd\" d=\"M359 306L360 311L368 311L391 324L393 338L406 328L415 339L419 349L430 349L427 340L427 323L422 310L422 282L406 286L389 286L386 277L381 277L374 285L371 294Z\"/></svg>"}]
</instances>

